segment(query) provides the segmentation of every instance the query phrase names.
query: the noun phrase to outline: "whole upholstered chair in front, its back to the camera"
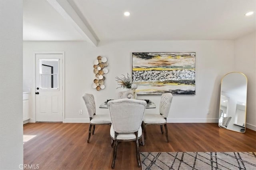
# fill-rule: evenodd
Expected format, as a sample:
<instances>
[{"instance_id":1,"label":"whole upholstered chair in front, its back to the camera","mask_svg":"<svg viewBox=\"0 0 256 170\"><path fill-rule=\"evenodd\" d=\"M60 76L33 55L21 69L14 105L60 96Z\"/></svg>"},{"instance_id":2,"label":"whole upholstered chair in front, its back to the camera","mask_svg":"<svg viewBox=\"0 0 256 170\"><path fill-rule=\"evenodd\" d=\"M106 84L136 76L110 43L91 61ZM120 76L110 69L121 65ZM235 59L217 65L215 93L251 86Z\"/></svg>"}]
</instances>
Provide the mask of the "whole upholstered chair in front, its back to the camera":
<instances>
[{"instance_id":1,"label":"whole upholstered chair in front, its back to the camera","mask_svg":"<svg viewBox=\"0 0 256 170\"><path fill-rule=\"evenodd\" d=\"M136 158L138 167L140 164L139 142L142 136L142 119L144 116L146 101L136 99L118 99L108 102L111 119L110 136L112 138L113 158L112 169L115 167L118 142L136 141Z\"/></svg>"}]
</instances>

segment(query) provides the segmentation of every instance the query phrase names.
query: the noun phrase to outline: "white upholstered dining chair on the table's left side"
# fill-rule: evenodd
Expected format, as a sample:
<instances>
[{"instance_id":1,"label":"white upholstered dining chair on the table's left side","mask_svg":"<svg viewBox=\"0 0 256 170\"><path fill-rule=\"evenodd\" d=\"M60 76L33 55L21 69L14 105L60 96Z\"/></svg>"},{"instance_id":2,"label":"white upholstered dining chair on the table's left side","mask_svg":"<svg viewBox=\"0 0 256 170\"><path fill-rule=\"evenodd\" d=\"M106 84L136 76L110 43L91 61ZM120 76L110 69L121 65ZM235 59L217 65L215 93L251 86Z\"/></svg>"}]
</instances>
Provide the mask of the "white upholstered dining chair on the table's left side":
<instances>
[{"instance_id":1,"label":"white upholstered dining chair on the table's left side","mask_svg":"<svg viewBox=\"0 0 256 170\"><path fill-rule=\"evenodd\" d=\"M93 94L84 94L84 103L90 117L90 127L87 143L89 143L91 138L91 133L94 134L95 125L105 125L111 124L109 114L96 114L96 105Z\"/></svg>"}]
</instances>

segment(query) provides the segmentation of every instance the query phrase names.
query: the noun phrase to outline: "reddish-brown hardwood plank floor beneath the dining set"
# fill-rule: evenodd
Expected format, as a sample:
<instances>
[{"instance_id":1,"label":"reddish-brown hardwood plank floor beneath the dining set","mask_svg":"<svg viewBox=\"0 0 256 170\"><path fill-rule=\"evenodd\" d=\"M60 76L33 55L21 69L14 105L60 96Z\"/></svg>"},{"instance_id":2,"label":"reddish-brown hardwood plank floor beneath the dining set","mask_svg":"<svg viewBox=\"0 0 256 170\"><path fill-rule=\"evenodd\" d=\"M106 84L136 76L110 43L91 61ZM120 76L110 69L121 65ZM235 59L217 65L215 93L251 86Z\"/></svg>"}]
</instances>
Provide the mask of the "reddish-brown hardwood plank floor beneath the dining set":
<instances>
[{"instance_id":1,"label":"reddish-brown hardwood plank floor beneath the dining set","mask_svg":"<svg viewBox=\"0 0 256 170\"><path fill-rule=\"evenodd\" d=\"M40 170L108 170L112 148L110 126L96 126L87 143L89 124L29 123L24 135L36 135L24 142L24 164L38 164ZM221 129L216 123L169 123L169 143L160 126L148 125L145 146L140 152L256 152L256 132L245 134ZM116 170L141 170L136 163L135 142L120 142Z\"/></svg>"}]
</instances>

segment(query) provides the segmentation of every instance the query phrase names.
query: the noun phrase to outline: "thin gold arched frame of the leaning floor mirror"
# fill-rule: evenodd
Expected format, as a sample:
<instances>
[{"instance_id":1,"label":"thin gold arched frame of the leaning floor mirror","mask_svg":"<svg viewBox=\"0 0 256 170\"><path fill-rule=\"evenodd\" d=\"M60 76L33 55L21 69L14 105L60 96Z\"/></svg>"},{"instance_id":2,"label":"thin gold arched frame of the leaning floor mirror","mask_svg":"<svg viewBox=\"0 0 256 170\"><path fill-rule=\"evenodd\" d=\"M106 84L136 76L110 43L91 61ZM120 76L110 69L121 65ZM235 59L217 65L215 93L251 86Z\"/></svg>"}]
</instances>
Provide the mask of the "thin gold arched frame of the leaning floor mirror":
<instances>
[{"instance_id":1,"label":"thin gold arched frame of the leaning floor mirror","mask_svg":"<svg viewBox=\"0 0 256 170\"><path fill-rule=\"evenodd\" d=\"M221 117L221 96L222 96L222 85L223 85L223 79L228 75L228 74L231 74L231 73L239 73L241 75L243 75L245 78L246 78L246 102L245 102L245 122L244 122L244 132L241 132L241 131L236 131L236 130L232 130L232 129L228 129L228 128L224 128L224 127L221 127L220 124L219 124L219 121L220 121L220 117ZM234 131L234 132L239 132L239 133L245 133L246 131L246 112L247 112L247 90L248 90L248 78L246 77L246 75L242 72L228 72L227 74L225 74L222 79L221 79L221 84L220 84L220 106L219 106L219 117L218 117L218 126L222 129L227 129L227 130L231 130L231 131ZM237 105L237 104L236 104Z\"/></svg>"}]
</instances>

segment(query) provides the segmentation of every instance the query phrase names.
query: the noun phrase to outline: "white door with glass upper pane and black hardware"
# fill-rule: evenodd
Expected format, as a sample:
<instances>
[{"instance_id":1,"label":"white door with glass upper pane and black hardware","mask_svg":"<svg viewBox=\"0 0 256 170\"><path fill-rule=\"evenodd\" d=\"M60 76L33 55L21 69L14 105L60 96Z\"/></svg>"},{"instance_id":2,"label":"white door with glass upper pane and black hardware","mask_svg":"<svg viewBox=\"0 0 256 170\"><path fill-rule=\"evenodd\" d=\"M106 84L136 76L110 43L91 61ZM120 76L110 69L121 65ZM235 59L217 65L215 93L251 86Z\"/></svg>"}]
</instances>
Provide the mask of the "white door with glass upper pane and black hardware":
<instances>
[{"instance_id":1,"label":"white door with glass upper pane and black hardware","mask_svg":"<svg viewBox=\"0 0 256 170\"><path fill-rule=\"evenodd\" d=\"M36 121L62 122L63 55L36 54Z\"/></svg>"}]
</instances>

